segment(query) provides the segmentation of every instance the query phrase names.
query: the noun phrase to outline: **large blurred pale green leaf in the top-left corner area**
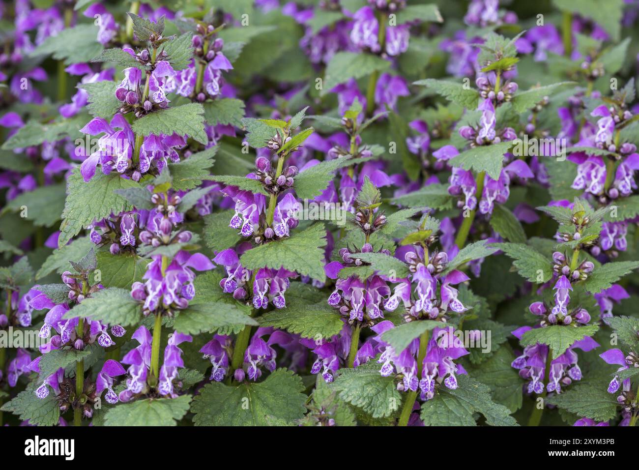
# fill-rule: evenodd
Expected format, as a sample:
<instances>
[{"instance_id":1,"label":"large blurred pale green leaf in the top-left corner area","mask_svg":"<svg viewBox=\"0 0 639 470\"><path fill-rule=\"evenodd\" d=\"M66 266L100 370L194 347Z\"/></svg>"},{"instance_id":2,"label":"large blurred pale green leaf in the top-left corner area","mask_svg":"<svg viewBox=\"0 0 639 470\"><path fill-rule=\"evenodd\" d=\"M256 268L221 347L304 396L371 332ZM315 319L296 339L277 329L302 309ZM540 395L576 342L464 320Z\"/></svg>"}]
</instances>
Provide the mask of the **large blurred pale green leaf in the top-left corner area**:
<instances>
[{"instance_id":1,"label":"large blurred pale green leaf in the top-left corner area","mask_svg":"<svg viewBox=\"0 0 639 470\"><path fill-rule=\"evenodd\" d=\"M79 62L88 62L94 58L103 46L97 40L98 28L93 24L78 24L67 27L55 36L49 36L42 44L38 45L29 56L48 56L62 60L65 65Z\"/></svg>"}]
</instances>

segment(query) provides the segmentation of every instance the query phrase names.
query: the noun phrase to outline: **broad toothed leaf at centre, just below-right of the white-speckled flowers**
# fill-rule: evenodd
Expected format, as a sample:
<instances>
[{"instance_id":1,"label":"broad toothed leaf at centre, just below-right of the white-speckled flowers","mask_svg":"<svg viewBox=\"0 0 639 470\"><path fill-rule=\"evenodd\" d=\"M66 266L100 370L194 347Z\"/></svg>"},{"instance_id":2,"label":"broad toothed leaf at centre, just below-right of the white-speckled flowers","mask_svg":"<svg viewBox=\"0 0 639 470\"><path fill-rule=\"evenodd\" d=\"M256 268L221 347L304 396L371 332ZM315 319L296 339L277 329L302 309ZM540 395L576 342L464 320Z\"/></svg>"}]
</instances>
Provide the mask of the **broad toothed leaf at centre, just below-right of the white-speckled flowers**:
<instances>
[{"instance_id":1,"label":"broad toothed leaf at centre, just below-right of the white-speckled flowers","mask_svg":"<svg viewBox=\"0 0 639 470\"><path fill-rule=\"evenodd\" d=\"M344 326L339 311L317 295L312 286L291 283L286 290L286 308L275 309L259 317L261 326L284 329L303 338L328 339Z\"/></svg>"}]
</instances>

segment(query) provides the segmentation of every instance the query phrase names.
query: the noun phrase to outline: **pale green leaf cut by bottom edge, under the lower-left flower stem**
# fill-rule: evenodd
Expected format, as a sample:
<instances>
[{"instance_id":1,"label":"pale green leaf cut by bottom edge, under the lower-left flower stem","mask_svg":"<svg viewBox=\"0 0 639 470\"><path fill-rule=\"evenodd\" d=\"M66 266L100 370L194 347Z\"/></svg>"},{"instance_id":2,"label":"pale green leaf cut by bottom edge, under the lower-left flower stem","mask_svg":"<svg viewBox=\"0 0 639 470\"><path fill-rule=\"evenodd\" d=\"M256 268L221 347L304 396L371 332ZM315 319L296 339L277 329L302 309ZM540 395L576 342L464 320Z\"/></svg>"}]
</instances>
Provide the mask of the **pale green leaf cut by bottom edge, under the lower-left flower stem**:
<instances>
[{"instance_id":1,"label":"pale green leaf cut by bottom edge, under the lower-left flower stem","mask_svg":"<svg viewBox=\"0 0 639 470\"><path fill-rule=\"evenodd\" d=\"M145 398L119 403L107 411L105 426L176 426L189 412L192 396L177 398Z\"/></svg>"}]
</instances>

